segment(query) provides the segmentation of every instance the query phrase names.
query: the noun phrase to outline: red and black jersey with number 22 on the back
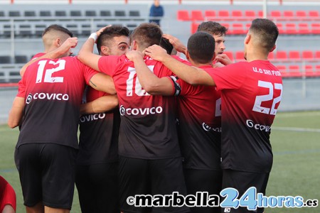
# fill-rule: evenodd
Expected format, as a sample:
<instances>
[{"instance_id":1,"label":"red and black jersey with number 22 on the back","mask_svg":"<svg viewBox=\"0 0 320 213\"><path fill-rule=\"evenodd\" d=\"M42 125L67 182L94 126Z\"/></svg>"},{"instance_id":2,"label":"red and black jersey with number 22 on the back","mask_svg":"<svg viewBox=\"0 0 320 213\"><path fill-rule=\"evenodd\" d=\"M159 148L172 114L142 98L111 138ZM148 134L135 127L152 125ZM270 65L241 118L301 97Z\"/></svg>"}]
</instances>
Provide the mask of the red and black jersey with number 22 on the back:
<instances>
[{"instance_id":1,"label":"red and black jersey with number 22 on the back","mask_svg":"<svg viewBox=\"0 0 320 213\"><path fill-rule=\"evenodd\" d=\"M282 77L266 60L207 70L222 97L222 166L270 172L270 131L282 97Z\"/></svg>"}]
</instances>

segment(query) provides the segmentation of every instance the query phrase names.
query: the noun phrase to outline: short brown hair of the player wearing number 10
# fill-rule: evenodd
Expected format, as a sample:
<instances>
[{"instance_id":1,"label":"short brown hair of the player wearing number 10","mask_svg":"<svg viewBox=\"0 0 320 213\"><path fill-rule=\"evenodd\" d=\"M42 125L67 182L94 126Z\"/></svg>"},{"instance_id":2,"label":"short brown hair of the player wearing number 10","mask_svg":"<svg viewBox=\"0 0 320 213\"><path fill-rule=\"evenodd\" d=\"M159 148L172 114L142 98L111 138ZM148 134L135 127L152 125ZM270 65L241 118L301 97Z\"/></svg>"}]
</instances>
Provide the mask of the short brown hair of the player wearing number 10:
<instances>
[{"instance_id":1,"label":"short brown hair of the player wearing number 10","mask_svg":"<svg viewBox=\"0 0 320 213\"><path fill-rule=\"evenodd\" d=\"M162 37L161 28L156 23L142 23L134 29L131 40L136 40L142 48L159 45Z\"/></svg>"}]
</instances>

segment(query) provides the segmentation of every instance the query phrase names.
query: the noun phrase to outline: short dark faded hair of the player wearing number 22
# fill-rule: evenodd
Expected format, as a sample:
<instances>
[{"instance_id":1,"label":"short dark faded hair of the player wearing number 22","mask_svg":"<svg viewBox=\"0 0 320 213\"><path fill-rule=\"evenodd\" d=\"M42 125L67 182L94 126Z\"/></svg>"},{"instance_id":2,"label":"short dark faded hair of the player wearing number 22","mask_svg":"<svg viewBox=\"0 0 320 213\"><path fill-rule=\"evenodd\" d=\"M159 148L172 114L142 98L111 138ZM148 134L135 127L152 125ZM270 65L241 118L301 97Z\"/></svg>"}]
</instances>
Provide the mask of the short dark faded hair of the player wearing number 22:
<instances>
[{"instance_id":1,"label":"short dark faded hair of the player wearing number 22","mask_svg":"<svg viewBox=\"0 0 320 213\"><path fill-rule=\"evenodd\" d=\"M259 45L265 48L267 52L272 50L279 35L279 30L275 23L267 18L256 18L253 20L249 31L257 36L260 41Z\"/></svg>"}]
</instances>

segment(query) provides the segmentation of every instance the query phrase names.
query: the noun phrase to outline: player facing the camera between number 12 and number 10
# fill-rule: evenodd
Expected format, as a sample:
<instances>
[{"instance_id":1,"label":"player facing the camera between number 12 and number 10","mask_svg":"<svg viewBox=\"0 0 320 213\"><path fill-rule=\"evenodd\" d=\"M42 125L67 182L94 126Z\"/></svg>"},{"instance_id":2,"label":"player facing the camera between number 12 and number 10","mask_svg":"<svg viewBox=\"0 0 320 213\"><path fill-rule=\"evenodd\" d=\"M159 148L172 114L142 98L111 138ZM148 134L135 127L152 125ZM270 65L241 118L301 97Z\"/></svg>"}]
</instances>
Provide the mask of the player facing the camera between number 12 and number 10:
<instances>
[{"instance_id":1,"label":"player facing the camera between number 12 and number 10","mask_svg":"<svg viewBox=\"0 0 320 213\"><path fill-rule=\"evenodd\" d=\"M100 55L123 55L129 50L129 29L123 26L106 28L97 38ZM106 111L110 95L87 87L86 104L93 104L91 114L80 117L79 152L75 184L82 213L119 213L118 135L119 109ZM107 99L103 103L101 99ZM117 96L114 102L117 102ZM113 106L114 104L111 104ZM85 107L88 108L88 107ZM100 111L100 108L103 110Z\"/></svg>"}]
</instances>

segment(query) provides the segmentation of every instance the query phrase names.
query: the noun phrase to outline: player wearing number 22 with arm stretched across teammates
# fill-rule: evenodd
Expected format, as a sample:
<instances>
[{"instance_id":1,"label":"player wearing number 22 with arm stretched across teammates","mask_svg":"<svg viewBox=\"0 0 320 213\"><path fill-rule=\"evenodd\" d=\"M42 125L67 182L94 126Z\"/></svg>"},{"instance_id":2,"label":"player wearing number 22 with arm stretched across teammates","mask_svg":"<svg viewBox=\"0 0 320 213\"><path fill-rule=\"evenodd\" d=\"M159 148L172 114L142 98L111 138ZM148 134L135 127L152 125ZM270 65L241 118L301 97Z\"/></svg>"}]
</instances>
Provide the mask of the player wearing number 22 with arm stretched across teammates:
<instances>
[{"instance_id":1,"label":"player wearing number 22 with arm stretched across teammates","mask_svg":"<svg viewBox=\"0 0 320 213\"><path fill-rule=\"evenodd\" d=\"M282 97L282 77L267 56L276 48L278 34L272 21L253 20L244 40L247 61L212 70L183 65L156 45L145 51L186 82L216 85L221 91L223 188L238 190L238 198L250 187L265 195L272 168L270 131ZM245 207L223 211L250 212Z\"/></svg>"}]
</instances>

